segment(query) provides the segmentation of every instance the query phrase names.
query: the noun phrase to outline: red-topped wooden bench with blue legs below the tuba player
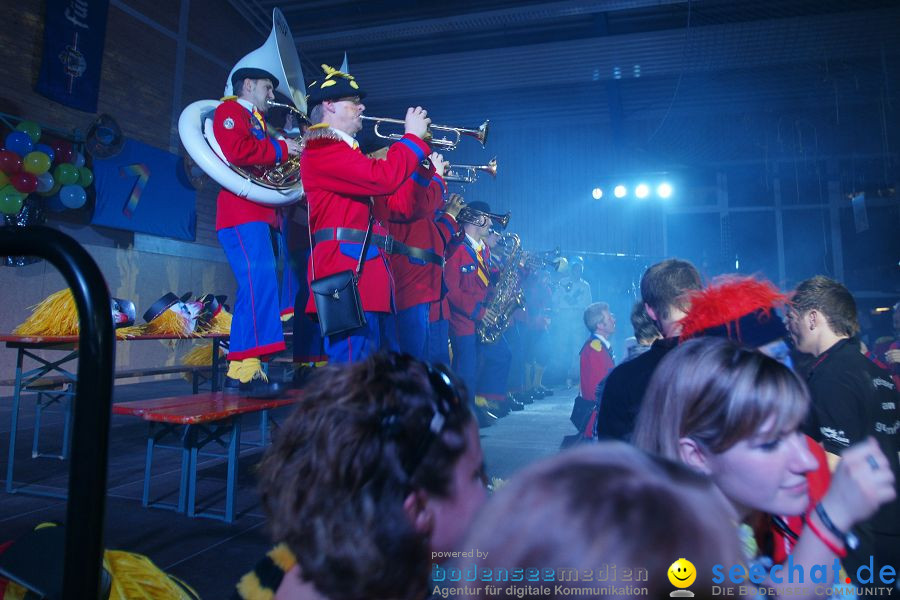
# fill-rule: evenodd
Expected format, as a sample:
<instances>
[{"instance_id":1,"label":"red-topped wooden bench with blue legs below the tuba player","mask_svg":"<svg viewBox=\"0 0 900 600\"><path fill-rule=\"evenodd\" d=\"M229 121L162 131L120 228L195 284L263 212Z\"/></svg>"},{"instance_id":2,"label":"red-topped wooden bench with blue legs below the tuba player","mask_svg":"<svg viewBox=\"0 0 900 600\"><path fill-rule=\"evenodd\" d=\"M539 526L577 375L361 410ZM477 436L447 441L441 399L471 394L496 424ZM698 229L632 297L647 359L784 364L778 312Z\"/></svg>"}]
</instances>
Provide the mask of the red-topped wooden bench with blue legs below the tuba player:
<instances>
[{"instance_id":1,"label":"red-topped wooden bench with blue legs below the tuba player","mask_svg":"<svg viewBox=\"0 0 900 600\"><path fill-rule=\"evenodd\" d=\"M282 398L242 398L237 394L214 392L152 400L135 400L113 404L116 415L139 417L149 423L147 457L144 466L143 506L154 506L187 513L188 517L208 517L234 521L234 497L237 482L237 459L241 446L241 417L268 411L298 402L300 390L290 390ZM153 451L168 436L181 441L181 478L178 485L178 503L150 501L150 473ZM227 436L227 441L223 440ZM225 487L225 510L222 514L196 511L197 457L208 444L216 443L225 448L228 475ZM172 448L173 446L160 447ZM203 452L203 454L209 454ZM216 454L216 456L222 456Z\"/></svg>"}]
</instances>

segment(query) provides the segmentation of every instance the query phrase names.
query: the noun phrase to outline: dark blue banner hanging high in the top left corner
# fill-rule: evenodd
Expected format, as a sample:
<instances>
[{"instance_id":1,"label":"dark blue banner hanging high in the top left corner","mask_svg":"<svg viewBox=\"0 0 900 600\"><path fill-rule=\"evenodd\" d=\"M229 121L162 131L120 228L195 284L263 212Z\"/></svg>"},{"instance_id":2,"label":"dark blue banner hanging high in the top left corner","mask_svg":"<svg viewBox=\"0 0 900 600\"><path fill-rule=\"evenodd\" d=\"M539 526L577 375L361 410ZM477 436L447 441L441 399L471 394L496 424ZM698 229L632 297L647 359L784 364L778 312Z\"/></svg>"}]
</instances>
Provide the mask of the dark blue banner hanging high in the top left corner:
<instances>
[{"instance_id":1,"label":"dark blue banner hanging high in the top left corner","mask_svg":"<svg viewBox=\"0 0 900 600\"><path fill-rule=\"evenodd\" d=\"M46 0L39 94L97 112L108 11L109 0Z\"/></svg>"}]
</instances>

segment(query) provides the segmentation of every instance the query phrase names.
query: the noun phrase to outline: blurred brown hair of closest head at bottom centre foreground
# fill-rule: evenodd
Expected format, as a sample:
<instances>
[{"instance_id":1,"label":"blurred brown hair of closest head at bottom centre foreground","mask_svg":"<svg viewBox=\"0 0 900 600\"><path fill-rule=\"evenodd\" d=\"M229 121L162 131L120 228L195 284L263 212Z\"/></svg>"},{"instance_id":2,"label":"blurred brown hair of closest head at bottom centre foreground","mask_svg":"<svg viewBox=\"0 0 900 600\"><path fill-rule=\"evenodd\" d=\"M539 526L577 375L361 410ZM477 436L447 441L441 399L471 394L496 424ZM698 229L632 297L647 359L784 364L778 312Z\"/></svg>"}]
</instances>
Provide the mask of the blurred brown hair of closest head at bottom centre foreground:
<instances>
[{"instance_id":1,"label":"blurred brown hair of closest head at bottom centre foreground","mask_svg":"<svg viewBox=\"0 0 900 600\"><path fill-rule=\"evenodd\" d=\"M462 547L480 550L475 565L497 581L515 569L554 572L549 593L538 584L497 583L512 588L507 596L596 598L600 580L580 583L581 577L616 565L620 577L632 571L647 597L662 598L672 589L669 567L680 557L696 567L697 587L711 584L701 578L712 576L713 565L740 562L735 530L727 524L726 507L707 477L622 442L601 442L516 473L481 510ZM467 559L457 568L471 565ZM633 597L615 584L615 575L611 581L603 598ZM458 585L468 588L464 597L485 596L484 583Z\"/></svg>"}]
</instances>

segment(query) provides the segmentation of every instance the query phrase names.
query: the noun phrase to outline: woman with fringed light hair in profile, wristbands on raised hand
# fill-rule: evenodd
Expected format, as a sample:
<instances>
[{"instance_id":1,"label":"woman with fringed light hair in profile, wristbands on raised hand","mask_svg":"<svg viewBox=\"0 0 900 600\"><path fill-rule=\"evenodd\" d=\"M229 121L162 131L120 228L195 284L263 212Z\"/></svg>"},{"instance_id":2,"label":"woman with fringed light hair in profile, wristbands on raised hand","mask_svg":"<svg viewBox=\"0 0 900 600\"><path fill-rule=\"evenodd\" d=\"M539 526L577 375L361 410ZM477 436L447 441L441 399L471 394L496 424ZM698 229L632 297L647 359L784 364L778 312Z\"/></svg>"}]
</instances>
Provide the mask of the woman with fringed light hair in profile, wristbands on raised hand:
<instances>
[{"instance_id":1,"label":"woman with fringed light hair in profile, wristbands on raised hand","mask_svg":"<svg viewBox=\"0 0 900 600\"><path fill-rule=\"evenodd\" d=\"M817 462L799 431L808 407L805 384L775 359L725 338L694 339L670 352L654 372L634 443L709 476L742 533L746 559L767 573L771 561L761 555L749 526L760 516L808 511L802 531L790 532L796 540L792 563L804 565L808 574L813 565L830 566L846 556L856 543L853 525L895 495L887 459L868 439L843 453L828 491L809 510L807 476ZM836 575L829 567L827 584ZM856 573L848 575L856 582ZM787 570L776 566L769 576L765 583L777 583Z\"/></svg>"}]
</instances>

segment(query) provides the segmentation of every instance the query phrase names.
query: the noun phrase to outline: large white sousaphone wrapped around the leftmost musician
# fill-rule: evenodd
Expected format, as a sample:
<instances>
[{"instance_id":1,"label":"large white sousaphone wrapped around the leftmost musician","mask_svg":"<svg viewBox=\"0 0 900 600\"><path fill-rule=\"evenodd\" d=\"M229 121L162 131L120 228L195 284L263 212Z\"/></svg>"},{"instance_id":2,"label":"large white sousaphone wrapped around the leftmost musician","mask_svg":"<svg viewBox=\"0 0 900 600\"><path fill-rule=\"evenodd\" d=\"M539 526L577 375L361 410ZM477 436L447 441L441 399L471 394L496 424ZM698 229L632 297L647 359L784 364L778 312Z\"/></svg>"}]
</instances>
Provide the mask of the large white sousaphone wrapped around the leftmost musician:
<instances>
[{"instance_id":1,"label":"large white sousaphone wrapped around the leftmost musician","mask_svg":"<svg viewBox=\"0 0 900 600\"><path fill-rule=\"evenodd\" d=\"M290 28L281 11L272 11L272 32L266 43L239 60L228 74L225 95L233 93L231 76L243 67L258 67L278 78L279 92L291 99L305 118L306 83ZM266 206L293 204L303 195L299 157L272 167L251 171L232 165L213 135L213 113L219 100L198 100L185 108L178 119L178 135L194 162L228 191Z\"/></svg>"}]
</instances>

